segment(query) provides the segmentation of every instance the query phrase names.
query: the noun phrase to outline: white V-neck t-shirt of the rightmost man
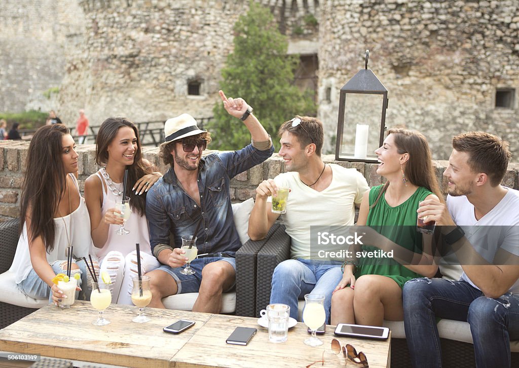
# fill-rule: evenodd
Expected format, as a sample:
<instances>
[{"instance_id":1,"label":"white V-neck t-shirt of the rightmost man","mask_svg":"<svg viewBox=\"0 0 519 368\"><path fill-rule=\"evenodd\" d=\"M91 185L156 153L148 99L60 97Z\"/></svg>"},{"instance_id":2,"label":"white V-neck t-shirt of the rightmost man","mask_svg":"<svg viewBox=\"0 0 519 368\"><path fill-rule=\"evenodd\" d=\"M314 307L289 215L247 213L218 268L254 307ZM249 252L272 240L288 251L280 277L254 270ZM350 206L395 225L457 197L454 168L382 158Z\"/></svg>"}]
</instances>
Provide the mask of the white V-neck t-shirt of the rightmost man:
<instances>
[{"instance_id":1,"label":"white V-neck t-shirt of the rightmost man","mask_svg":"<svg viewBox=\"0 0 519 368\"><path fill-rule=\"evenodd\" d=\"M466 196L447 196L447 208L454 222L463 228L465 237L488 262L494 260L499 248L519 256L519 190L506 189L508 192L503 199L480 220L476 220L474 206ZM461 280L477 288L465 272L461 274ZM509 292L519 294L519 280Z\"/></svg>"}]
</instances>

